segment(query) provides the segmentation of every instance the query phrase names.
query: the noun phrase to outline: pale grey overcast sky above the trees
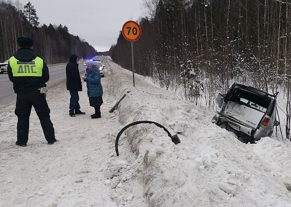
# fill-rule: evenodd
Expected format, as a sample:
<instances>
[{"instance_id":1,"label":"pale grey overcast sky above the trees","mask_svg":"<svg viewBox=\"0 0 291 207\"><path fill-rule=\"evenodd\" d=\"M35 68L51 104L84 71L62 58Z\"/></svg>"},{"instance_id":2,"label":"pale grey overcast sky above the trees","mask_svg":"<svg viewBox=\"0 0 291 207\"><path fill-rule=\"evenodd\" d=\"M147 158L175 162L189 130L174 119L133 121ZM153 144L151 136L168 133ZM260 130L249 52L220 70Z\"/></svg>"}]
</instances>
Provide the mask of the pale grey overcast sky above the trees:
<instances>
[{"instance_id":1,"label":"pale grey overcast sky above the trees","mask_svg":"<svg viewBox=\"0 0 291 207\"><path fill-rule=\"evenodd\" d=\"M29 0L19 0L25 5ZM30 0L40 24L69 28L69 33L84 38L97 51L115 44L128 20L144 15L143 0Z\"/></svg>"}]
</instances>

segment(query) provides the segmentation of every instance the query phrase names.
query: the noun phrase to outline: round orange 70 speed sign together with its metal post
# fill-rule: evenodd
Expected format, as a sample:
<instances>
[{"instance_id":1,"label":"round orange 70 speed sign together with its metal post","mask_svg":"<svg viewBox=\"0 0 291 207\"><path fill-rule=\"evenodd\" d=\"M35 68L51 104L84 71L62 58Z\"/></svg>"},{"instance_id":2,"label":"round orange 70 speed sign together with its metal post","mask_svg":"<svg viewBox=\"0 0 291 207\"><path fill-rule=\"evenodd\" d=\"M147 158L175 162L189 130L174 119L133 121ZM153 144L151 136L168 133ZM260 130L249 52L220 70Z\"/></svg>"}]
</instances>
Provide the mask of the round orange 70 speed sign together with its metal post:
<instances>
[{"instance_id":1,"label":"round orange 70 speed sign together with its metal post","mask_svg":"<svg viewBox=\"0 0 291 207\"><path fill-rule=\"evenodd\" d=\"M138 40L142 35L142 29L135 21L127 21L122 26L122 35L128 41L131 41L131 61L132 61L132 77L133 86L135 87L134 81L134 54L133 54L133 42Z\"/></svg>"}]
</instances>

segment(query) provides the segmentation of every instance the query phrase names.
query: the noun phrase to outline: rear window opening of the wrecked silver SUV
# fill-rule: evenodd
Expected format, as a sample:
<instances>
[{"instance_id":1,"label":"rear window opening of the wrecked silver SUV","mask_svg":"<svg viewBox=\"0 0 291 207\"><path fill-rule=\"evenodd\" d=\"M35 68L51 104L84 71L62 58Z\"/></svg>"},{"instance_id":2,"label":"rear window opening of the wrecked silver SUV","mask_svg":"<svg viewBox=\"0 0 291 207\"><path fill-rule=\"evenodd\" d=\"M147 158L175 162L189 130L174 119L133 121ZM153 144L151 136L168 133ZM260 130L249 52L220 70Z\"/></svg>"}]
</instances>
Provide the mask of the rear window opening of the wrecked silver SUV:
<instances>
[{"instance_id":1,"label":"rear window opening of the wrecked silver SUV","mask_svg":"<svg viewBox=\"0 0 291 207\"><path fill-rule=\"evenodd\" d=\"M243 89L237 89L231 96L230 101L247 105L264 113L271 103L271 100L268 96L260 96L258 94Z\"/></svg>"}]
</instances>

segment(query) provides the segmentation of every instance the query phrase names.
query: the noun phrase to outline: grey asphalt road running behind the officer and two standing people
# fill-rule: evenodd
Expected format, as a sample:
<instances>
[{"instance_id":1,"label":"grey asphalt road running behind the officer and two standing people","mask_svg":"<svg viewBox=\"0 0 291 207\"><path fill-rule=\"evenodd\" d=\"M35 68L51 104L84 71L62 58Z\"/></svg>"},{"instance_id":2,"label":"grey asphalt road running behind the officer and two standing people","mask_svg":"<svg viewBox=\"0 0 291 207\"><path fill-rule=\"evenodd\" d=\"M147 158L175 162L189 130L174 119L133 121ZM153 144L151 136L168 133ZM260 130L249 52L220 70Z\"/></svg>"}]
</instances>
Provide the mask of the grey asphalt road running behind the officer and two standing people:
<instances>
[{"instance_id":1,"label":"grey asphalt road running behind the officer and two standing people","mask_svg":"<svg viewBox=\"0 0 291 207\"><path fill-rule=\"evenodd\" d=\"M94 57L95 60L103 60L102 56ZM49 81L46 85L50 88L58 85L66 80L66 64L60 66L49 67ZM84 62L79 62L79 71L82 74L85 70ZM0 74L0 104L6 104L12 99L16 99L16 94L13 90L13 84L8 78L8 74Z\"/></svg>"}]
</instances>

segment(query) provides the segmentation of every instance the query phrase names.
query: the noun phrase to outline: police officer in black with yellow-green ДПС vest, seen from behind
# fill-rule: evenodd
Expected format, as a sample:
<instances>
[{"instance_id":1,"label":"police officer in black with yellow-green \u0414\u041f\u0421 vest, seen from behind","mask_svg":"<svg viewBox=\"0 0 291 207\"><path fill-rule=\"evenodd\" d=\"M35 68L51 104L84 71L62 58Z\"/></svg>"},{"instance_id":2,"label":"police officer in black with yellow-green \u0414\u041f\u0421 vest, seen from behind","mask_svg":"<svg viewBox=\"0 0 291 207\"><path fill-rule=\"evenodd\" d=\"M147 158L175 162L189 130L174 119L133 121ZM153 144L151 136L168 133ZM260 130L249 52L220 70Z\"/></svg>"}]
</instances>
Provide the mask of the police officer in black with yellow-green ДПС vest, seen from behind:
<instances>
[{"instance_id":1,"label":"police officer in black with yellow-green \u0414\u041f\u0421 vest, seen from behind","mask_svg":"<svg viewBox=\"0 0 291 207\"><path fill-rule=\"evenodd\" d=\"M15 114L17 115L16 145L26 146L29 132L29 117L32 106L40 120L48 144L55 141L55 131L50 120L50 109L45 99L46 82L49 80L45 62L33 51L33 39L18 37L19 50L9 59L8 76L17 94Z\"/></svg>"}]
</instances>

